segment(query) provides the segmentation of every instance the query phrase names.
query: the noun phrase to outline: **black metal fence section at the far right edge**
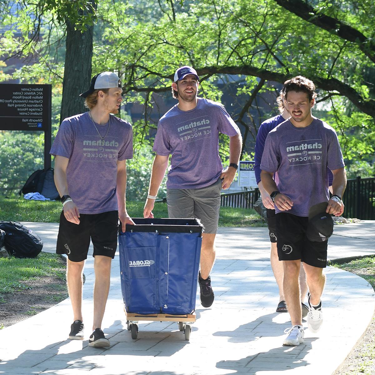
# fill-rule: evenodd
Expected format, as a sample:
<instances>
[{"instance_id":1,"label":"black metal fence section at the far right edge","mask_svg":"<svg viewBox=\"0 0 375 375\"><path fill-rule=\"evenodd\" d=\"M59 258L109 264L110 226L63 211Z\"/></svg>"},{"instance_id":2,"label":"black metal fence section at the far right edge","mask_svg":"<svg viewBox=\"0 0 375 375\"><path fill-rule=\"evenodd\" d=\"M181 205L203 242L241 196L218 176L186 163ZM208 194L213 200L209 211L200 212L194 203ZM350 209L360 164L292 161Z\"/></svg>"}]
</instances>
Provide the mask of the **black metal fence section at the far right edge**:
<instances>
[{"instance_id":1,"label":"black metal fence section at the far right edge","mask_svg":"<svg viewBox=\"0 0 375 375\"><path fill-rule=\"evenodd\" d=\"M375 177L348 180L342 200L344 217L375 220Z\"/></svg>"}]
</instances>

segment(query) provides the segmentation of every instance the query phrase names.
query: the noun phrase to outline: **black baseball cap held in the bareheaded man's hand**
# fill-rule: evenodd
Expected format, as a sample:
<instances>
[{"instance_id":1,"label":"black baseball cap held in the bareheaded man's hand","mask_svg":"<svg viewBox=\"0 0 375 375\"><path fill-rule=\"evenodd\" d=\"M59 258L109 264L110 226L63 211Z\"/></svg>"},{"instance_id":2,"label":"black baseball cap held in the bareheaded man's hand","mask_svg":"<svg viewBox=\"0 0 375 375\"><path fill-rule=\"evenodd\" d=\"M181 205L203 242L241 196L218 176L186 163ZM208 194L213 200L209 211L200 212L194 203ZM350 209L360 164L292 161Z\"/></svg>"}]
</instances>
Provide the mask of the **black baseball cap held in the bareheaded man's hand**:
<instances>
[{"instance_id":1,"label":"black baseball cap held in the bareheaded man's hand","mask_svg":"<svg viewBox=\"0 0 375 375\"><path fill-rule=\"evenodd\" d=\"M333 233L332 214L326 213L328 202L314 204L309 209L306 236L310 241L327 241Z\"/></svg>"}]
</instances>

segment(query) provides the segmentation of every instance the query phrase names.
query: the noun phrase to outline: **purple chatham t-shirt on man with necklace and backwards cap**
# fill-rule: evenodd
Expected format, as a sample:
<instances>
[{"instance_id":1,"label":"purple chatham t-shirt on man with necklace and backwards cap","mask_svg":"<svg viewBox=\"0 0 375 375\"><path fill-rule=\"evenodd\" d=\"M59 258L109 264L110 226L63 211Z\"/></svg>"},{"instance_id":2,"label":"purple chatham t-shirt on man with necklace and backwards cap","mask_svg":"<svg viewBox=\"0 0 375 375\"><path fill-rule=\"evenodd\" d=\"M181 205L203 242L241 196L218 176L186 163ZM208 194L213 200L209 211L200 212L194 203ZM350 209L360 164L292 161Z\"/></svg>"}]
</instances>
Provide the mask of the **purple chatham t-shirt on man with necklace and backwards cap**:
<instances>
[{"instance_id":1,"label":"purple chatham t-shirt on man with necklace and backwards cap","mask_svg":"<svg viewBox=\"0 0 375 375\"><path fill-rule=\"evenodd\" d=\"M50 154L69 159L66 168L69 195L80 213L118 210L117 160L133 157L132 126L110 115L111 124L96 124L83 113L66 118L58 129ZM106 135L108 130L108 134Z\"/></svg>"}]
</instances>

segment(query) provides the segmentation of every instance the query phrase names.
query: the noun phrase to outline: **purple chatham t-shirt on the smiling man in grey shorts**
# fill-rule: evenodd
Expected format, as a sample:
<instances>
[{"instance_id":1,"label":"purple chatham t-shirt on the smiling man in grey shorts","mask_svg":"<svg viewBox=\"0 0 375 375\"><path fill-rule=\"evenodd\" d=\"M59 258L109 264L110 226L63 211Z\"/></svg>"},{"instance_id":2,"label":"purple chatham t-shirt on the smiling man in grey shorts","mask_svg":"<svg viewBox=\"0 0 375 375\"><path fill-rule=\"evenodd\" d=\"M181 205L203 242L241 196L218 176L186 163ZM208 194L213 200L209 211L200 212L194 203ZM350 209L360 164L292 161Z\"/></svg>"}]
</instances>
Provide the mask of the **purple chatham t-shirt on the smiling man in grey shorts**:
<instances>
[{"instance_id":1,"label":"purple chatham t-shirt on the smiling man in grey shorts","mask_svg":"<svg viewBox=\"0 0 375 375\"><path fill-rule=\"evenodd\" d=\"M219 157L219 132L240 133L222 104L198 98L193 110L172 107L159 120L153 151L172 154L168 189L198 189L217 181L223 166Z\"/></svg>"}]
</instances>

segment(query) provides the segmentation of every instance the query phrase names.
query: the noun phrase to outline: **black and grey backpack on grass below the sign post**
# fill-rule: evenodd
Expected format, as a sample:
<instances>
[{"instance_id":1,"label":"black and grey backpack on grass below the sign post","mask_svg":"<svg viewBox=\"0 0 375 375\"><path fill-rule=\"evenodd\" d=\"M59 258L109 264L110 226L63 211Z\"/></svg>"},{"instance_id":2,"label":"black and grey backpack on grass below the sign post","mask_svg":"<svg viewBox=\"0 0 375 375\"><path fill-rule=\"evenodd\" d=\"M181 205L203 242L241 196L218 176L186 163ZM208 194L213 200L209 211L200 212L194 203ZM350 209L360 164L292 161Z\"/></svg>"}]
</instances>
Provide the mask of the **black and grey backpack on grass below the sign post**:
<instances>
[{"instance_id":1,"label":"black and grey backpack on grass below the sign post","mask_svg":"<svg viewBox=\"0 0 375 375\"><path fill-rule=\"evenodd\" d=\"M60 195L54 181L54 169L38 169L27 179L19 194L40 193L51 200L59 199Z\"/></svg>"}]
</instances>

